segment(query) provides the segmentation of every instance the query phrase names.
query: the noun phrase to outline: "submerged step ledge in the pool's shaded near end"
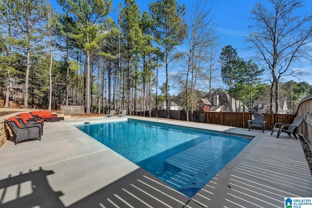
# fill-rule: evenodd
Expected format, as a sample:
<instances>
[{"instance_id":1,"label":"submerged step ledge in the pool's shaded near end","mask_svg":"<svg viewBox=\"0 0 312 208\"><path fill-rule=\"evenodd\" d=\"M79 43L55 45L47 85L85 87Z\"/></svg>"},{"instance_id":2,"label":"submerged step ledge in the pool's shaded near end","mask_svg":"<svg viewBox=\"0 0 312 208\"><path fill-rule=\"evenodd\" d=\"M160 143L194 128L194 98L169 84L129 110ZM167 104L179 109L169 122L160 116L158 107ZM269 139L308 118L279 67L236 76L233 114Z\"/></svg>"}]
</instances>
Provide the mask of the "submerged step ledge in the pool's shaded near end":
<instances>
[{"instance_id":1,"label":"submerged step ledge in the pool's shaded near end","mask_svg":"<svg viewBox=\"0 0 312 208\"><path fill-rule=\"evenodd\" d=\"M223 142L224 138L218 137L215 136L214 139L206 140L167 158L164 160L166 172L158 177L179 191L185 187L200 189L224 166L224 161L227 161L224 153L233 148L232 144Z\"/></svg>"}]
</instances>

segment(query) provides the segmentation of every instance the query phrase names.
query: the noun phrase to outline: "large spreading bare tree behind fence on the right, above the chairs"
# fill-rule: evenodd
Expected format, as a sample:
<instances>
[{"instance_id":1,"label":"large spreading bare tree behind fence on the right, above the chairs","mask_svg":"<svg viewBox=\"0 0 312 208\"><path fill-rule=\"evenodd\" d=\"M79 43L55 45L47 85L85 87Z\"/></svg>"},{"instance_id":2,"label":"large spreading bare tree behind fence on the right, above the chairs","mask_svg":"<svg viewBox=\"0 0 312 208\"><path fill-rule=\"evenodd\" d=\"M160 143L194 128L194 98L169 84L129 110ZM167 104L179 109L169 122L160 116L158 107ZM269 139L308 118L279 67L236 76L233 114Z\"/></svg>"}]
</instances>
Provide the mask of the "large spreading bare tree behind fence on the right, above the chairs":
<instances>
[{"instance_id":1,"label":"large spreading bare tree behind fence on the right, above the chairs","mask_svg":"<svg viewBox=\"0 0 312 208\"><path fill-rule=\"evenodd\" d=\"M275 113L279 109L279 80L282 76L300 76L294 67L302 59L312 60L309 43L312 42L312 16L300 16L301 0L269 0L272 10L261 2L251 11L254 25L247 41L257 54L255 60L264 62L272 76L271 107L275 95Z\"/></svg>"}]
</instances>

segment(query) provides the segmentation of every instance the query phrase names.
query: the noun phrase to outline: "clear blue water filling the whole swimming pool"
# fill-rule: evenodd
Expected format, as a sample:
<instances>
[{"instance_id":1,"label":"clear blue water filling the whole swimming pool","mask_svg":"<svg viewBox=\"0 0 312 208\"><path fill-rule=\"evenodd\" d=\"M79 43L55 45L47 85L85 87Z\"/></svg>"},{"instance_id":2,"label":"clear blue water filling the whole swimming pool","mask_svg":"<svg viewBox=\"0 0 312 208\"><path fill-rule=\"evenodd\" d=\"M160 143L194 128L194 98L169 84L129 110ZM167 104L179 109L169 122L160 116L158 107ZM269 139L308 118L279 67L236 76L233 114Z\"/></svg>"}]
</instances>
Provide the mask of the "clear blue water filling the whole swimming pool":
<instances>
[{"instance_id":1,"label":"clear blue water filling the whole swimming pool","mask_svg":"<svg viewBox=\"0 0 312 208\"><path fill-rule=\"evenodd\" d=\"M188 197L251 141L131 119L77 128Z\"/></svg>"}]
</instances>

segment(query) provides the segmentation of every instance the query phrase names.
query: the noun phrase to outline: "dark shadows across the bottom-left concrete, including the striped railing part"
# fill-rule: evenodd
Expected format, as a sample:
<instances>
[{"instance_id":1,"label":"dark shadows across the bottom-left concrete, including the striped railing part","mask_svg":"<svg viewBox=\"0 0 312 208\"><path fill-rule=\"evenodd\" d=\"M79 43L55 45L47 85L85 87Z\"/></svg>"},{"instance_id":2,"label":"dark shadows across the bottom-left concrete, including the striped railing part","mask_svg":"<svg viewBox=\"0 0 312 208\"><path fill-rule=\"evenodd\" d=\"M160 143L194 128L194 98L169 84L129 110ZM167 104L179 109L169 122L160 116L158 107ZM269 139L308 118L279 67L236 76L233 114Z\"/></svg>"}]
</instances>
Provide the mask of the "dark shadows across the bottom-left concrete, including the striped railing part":
<instances>
[{"instance_id":1,"label":"dark shadows across the bottom-left concrete, including the striped railing part","mask_svg":"<svg viewBox=\"0 0 312 208\"><path fill-rule=\"evenodd\" d=\"M0 208L65 208L47 176L52 170L29 170L9 175L0 180ZM79 191L79 190L77 190ZM139 168L114 183L78 200L69 208L124 208L124 207L174 207L183 208L188 203L202 208L190 198L164 184L147 171Z\"/></svg>"}]
</instances>

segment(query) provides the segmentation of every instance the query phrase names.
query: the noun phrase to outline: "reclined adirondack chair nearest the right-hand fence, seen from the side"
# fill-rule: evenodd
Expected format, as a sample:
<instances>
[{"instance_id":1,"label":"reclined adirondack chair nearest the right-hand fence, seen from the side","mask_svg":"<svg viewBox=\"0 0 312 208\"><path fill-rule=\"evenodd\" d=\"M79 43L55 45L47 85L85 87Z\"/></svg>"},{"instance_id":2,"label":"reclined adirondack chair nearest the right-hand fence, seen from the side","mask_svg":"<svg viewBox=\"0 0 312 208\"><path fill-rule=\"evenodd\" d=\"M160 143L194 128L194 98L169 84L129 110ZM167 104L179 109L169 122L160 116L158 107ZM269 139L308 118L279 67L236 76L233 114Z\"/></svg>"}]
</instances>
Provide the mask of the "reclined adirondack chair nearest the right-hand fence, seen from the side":
<instances>
[{"instance_id":1,"label":"reclined adirondack chair nearest the right-hand fence, seen from the side","mask_svg":"<svg viewBox=\"0 0 312 208\"><path fill-rule=\"evenodd\" d=\"M296 136L295 130L300 126L303 120L304 120L303 116L298 115L297 117L293 119L292 124L275 123L274 128L272 129L271 135L273 134L273 132L277 132L276 137L279 138L281 132L285 132L290 137L292 134L296 139L298 139ZM281 127L278 128L277 126L281 126Z\"/></svg>"}]
</instances>

